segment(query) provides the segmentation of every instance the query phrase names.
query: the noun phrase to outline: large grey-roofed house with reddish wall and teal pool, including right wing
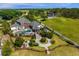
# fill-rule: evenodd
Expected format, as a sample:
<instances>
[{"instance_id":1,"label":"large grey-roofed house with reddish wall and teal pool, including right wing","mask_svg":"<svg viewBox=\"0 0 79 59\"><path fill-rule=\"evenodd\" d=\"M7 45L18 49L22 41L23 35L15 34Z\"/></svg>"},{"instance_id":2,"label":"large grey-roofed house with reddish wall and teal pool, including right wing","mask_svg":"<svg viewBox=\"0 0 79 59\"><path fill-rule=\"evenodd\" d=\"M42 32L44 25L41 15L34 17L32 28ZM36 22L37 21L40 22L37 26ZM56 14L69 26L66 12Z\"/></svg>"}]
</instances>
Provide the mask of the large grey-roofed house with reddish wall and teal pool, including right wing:
<instances>
[{"instance_id":1,"label":"large grey-roofed house with reddish wall and teal pool, including right wing","mask_svg":"<svg viewBox=\"0 0 79 59\"><path fill-rule=\"evenodd\" d=\"M33 31L39 31L43 26L37 21L29 21L22 17L11 25L11 30L14 35L33 35Z\"/></svg>"}]
</instances>

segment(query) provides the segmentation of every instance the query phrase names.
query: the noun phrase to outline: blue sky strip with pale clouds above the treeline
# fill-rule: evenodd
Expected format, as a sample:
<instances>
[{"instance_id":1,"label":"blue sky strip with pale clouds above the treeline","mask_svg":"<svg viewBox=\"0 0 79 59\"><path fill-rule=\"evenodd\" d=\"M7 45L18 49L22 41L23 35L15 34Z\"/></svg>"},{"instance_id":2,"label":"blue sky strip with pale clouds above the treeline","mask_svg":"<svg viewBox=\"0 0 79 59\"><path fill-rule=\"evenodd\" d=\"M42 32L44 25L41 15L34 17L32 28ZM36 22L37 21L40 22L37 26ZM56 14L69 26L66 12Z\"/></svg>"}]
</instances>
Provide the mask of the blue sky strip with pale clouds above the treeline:
<instances>
[{"instance_id":1,"label":"blue sky strip with pale clouds above the treeline","mask_svg":"<svg viewBox=\"0 0 79 59\"><path fill-rule=\"evenodd\" d=\"M0 3L0 9L79 8L79 3Z\"/></svg>"}]
</instances>

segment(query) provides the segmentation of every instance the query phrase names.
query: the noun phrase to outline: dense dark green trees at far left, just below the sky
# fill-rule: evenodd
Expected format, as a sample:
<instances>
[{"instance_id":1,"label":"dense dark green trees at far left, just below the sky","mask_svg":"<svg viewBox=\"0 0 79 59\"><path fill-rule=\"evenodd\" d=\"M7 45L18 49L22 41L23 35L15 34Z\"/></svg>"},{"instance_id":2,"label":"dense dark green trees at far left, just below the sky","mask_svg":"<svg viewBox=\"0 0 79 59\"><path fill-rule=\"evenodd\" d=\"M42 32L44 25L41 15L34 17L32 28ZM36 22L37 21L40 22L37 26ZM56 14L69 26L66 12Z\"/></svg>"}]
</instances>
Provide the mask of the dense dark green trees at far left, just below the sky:
<instances>
[{"instance_id":1,"label":"dense dark green trees at far left, just below the sky","mask_svg":"<svg viewBox=\"0 0 79 59\"><path fill-rule=\"evenodd\" d=\"M13 17L20 16L21 14L22 13L18 10L12 10L12 9L0 10L0 17L2 17L2 19L5 19L5 20L10 20Z\"/></svg>"}]
</instances>

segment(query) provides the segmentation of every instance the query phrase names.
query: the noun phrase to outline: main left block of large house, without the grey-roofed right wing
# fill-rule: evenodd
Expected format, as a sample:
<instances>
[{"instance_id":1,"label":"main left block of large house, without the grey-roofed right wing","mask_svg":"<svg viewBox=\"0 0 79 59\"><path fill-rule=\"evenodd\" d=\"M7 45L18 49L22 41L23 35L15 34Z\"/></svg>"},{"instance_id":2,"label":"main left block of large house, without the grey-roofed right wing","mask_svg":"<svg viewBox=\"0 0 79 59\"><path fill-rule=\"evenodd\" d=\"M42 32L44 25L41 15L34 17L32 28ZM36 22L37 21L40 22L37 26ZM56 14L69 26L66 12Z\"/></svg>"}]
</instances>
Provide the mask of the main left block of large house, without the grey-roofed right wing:
<instances>
[{"instance_id":1,"label":"main left block of large house, without the grey-roofed right wing","mask_svg":"<svg viewBox=\"0 0 79 59\"><path fill-rule=\"evenodd\" d=\"M11 30L14 35L31 35L33 32L30 26L31 22L25 17L21 17L11 25Z\"/></svg>"}]
</instances>

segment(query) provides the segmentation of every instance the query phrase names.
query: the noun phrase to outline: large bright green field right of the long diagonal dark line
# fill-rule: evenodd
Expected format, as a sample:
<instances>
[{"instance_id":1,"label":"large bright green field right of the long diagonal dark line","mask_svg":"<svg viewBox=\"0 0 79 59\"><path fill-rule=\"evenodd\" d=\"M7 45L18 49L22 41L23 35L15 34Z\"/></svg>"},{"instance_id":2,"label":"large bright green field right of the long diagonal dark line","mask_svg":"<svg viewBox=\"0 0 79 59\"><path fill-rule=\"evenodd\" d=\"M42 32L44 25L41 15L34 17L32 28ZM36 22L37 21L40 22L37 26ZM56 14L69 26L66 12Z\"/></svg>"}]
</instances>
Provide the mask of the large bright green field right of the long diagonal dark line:
<instances>
[{"instance_id":1,"label":"large bright green field right of the long diagonal dark line","mask_svg":"<svg viewBox=\"0 0 79 59\"><path fill-rule=\"evenodd\" d=\"M55 17L43 23L79 44L79 19Z\"/></svg>"}]
</instances>

